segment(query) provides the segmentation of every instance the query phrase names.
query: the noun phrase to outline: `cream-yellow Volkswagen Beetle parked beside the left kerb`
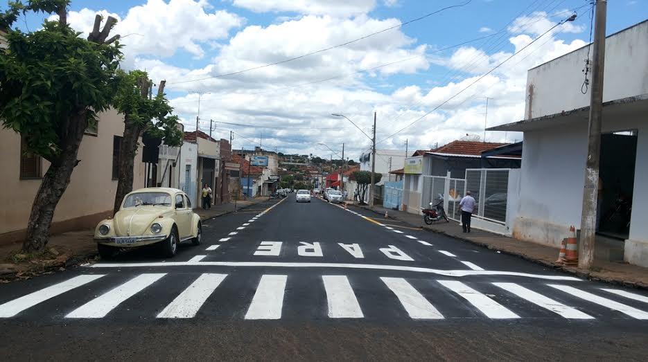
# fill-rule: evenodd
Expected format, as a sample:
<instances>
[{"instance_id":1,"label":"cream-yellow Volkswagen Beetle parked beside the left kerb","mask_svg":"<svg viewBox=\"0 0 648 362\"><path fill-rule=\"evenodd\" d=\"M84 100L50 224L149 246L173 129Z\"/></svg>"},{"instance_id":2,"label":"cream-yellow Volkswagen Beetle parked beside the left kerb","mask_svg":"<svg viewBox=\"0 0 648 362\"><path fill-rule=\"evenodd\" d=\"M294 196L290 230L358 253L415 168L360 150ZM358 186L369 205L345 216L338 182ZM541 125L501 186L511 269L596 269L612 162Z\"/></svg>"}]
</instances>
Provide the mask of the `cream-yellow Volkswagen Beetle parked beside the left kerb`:
<instances>
[{"instance_id":1,"label":"cream-yellow Volkswagen Beetle parked beside the left kerb","mask_svg":"<svg viewBox=\"0 0 648 362\"><path fill-rule=\"evenodd\" d=\"M101 221L94 240L102 258L119 248L159 244L165 257L177 253L177 244L191 240L200 244L200 216L191 209L189 197L175 188L142 188L127 194L113 219Z\"/></svg>"}]
</instances>

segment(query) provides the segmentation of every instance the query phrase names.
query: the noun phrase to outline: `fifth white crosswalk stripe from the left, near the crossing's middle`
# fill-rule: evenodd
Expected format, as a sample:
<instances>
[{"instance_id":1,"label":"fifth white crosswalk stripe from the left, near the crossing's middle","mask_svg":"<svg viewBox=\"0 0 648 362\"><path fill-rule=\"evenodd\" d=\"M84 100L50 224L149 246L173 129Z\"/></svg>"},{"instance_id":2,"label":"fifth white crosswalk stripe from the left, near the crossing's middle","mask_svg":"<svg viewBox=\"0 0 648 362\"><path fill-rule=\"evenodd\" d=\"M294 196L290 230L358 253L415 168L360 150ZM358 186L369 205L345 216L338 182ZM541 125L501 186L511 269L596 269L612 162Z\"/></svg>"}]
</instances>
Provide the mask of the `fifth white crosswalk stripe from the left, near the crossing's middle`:
<instances>
[{"instance_id":1,"label":"fifth white crosswalk stripe from the left, near the crossing's middle","mask_svg":"<svg viewBox=\"0 0 648 362\"><path fill-rule=\"evenodd\" d=\"M362 309L344 275L322 275L330 318L364 318Z\"/></svg>"}]
</instances>

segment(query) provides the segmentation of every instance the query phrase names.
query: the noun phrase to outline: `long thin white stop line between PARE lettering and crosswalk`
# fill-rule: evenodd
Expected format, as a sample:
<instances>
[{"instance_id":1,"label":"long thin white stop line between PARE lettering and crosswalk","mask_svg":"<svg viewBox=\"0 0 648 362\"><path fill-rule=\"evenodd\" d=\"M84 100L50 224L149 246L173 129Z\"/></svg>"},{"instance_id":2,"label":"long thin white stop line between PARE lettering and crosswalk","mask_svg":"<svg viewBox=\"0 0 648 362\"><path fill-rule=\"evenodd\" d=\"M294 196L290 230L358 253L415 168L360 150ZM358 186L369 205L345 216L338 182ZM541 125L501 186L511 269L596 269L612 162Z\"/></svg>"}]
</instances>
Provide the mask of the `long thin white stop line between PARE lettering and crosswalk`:
<instances>
[{"instance_id":1,"label":"long thin white stop line between PARE lettering and crosswalk","mask_svg":"<svg viewBox=\"0 0 648 362\"><path fill-rule=\"evenodd\" d=\"M141 262L141 263L98 263L85 266L87 268L141 268L152 266L235 266L235 267L259 267L259 268L335 268L335 269L368 269L368 270L389 270L389 271L413 271L417 273L429 273L446 275L450 277L463 277L466 275L507 275L525 278L536 278L546 280L570 280L581 282L575 277L563 275L543 275L531 273L519 273L517 271L478 271L478 270L443 270L422 268L420 266L405 265L384 265L384 264L356 264L356 263L323 263L323 262Z\"/></svg>"}]
</instances>

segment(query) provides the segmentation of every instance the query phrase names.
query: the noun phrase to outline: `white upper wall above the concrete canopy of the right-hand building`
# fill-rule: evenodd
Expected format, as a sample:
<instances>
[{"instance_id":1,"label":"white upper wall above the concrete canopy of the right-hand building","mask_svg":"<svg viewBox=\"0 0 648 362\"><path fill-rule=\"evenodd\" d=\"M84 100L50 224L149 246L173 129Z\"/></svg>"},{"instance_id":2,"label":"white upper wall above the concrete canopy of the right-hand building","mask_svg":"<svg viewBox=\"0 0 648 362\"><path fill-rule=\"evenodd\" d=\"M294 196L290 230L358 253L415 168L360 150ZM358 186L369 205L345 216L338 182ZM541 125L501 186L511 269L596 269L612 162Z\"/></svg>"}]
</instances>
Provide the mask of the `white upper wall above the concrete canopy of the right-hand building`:
<instances>
[{"instance_id":1,"label":"white upper wall above the concrete canopy of the right-hand building","mask_svg":"<svg viewBox=\"0 0 648 362\"><path fill-rule=\"evenodd\" d=\"M605 46L604 102L648 93L648 21L609 36ZM589 105L590 93L580 91L587 52L585 46L529 70L525 119Z\"/></svg>"}]
</instances>

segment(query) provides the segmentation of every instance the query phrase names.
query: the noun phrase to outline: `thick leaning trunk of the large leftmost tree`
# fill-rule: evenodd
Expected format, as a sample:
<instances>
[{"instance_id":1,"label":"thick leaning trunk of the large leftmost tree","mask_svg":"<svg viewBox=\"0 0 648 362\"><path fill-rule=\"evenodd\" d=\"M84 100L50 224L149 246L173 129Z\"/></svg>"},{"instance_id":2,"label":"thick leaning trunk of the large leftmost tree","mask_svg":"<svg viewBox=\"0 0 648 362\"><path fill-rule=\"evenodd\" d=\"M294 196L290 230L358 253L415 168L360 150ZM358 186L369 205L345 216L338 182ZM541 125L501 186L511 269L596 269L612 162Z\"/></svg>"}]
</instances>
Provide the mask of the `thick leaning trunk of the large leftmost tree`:
<instances>
[{"instance_id":1,"label":"thick leaning trunk of the large leftmost tree","mask_svg":"<svg viewBox=\"0 0 648 362\"><path fill-rule=\"evenodd\" d=\"M49 239L49 228L54 217L54 210L70 183L72 171L79 163L76 158L87 124L85 109L71 116L67 133L62 134L62 151L55 159L51 160L51 165L45 172L36 193L27 221L27 235L23 242L23 251L40 253L44 250Z\"/></svg>"}]
</instances>

